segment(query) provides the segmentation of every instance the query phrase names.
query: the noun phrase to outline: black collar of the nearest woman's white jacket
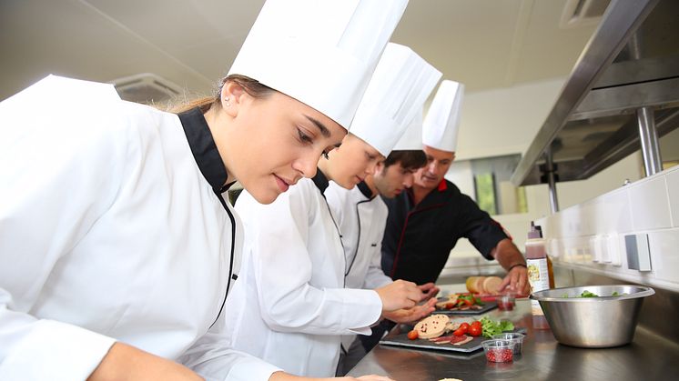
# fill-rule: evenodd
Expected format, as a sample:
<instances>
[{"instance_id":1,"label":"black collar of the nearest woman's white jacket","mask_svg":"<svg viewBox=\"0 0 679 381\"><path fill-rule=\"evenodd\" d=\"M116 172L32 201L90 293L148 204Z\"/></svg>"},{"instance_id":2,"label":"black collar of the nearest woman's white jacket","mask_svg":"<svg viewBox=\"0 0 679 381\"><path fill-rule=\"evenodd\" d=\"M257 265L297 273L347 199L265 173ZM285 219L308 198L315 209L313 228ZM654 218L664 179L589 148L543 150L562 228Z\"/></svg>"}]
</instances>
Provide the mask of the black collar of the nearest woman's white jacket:
<instances>
[{"instance_id":1,"label":"black collar of the nearest woman's white jacket","mask_svg":"<svg viewBox=\"0 0 679 381\"><path fill-rule=\"evenodd\" d=\"M215 192L226 192L233 183L225 185L228 178L227 167L219 155L205 116L198 107L178 116L200 173Z\"/></svg>"}]
</instances>

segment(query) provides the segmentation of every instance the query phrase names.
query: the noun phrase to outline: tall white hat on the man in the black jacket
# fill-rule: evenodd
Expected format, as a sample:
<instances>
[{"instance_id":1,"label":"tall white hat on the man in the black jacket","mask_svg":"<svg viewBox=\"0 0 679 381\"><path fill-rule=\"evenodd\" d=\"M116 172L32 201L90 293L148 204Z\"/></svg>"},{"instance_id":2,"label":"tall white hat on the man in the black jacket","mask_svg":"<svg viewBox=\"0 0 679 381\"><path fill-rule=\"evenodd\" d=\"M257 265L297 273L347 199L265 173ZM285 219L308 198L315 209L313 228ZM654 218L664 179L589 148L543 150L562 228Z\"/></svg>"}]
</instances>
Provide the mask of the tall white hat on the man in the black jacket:
<instances>
[{"instance_id":1,"label":"tall white hat on the man in the black jacket","mask_svg":"<svg viewBox=\"0 0 679 381\"><path fill-rule=\"evenodd\" d=\"M455 152L464 85L444 80L431 101L422 125L422 143L441 151Z\"/></svg>"}]
</instances>

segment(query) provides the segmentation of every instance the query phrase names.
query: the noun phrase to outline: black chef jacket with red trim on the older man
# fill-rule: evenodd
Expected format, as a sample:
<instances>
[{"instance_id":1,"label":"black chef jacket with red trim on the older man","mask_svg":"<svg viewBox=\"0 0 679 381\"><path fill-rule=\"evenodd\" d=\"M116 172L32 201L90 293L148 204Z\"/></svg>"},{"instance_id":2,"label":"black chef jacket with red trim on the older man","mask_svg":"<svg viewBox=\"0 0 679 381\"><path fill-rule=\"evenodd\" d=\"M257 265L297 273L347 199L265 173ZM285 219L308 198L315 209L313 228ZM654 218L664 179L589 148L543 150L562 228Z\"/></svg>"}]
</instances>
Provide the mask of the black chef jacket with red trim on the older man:
<instances>
[{"instance_id":1,"label":"black chef jacket with red trim on the older man","mask_svg":"<svg viewBox=\"0 0 679 381\"><path fill-rule=\"evenodd\" d=\"M499 223L445 179L418 206L410 190L384 202L389 216L382 239L382 270L394 280L435 282L461 237L489 260L492 249L508 237Z\"/></svg>"}]
</instances>

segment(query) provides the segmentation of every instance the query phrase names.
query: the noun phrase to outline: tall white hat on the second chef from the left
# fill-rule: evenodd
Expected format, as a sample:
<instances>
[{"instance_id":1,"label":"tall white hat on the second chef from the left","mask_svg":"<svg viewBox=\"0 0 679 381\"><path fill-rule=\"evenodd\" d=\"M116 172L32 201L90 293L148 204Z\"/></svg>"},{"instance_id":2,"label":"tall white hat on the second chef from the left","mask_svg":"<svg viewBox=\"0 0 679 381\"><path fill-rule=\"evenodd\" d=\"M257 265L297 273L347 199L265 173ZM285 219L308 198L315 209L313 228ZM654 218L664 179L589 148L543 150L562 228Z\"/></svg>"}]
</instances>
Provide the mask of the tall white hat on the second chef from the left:
<instances>
[{"instance_id":1,"label":"tall white hat on the second chef from the left","mask_svg":"<svg viewBox=\"0 0 679 381\"><path fill-rule=\"evenodd\" d=\"M370 78L349 132L389 155L441 72L408 46L390 43Z\"/></svg>"}]
</instances>

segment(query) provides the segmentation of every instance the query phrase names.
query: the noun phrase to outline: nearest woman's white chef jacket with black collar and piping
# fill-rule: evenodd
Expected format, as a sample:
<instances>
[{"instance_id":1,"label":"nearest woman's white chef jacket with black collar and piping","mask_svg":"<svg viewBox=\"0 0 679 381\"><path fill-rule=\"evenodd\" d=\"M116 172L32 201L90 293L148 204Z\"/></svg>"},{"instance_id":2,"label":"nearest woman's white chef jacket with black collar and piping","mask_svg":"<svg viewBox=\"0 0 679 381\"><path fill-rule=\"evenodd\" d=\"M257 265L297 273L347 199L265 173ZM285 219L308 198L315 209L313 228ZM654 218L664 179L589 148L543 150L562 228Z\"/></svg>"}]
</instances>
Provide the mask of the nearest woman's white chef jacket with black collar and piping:
<instances>
[{"instance_id":1,"label":"nearest woman's white chef jacket with black collar and piping","mask_svg":"<svg viewBox=\"0 0 679 381\"><path fill-rule=\"evenodd\" d=\"M0 103L0 379L85 379L115 341L269 379L219 341L242 244L226 178L198 110L56 76Z\"/></svg>"}]
</instances>

